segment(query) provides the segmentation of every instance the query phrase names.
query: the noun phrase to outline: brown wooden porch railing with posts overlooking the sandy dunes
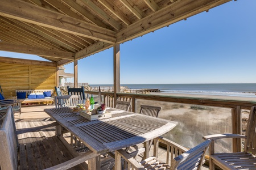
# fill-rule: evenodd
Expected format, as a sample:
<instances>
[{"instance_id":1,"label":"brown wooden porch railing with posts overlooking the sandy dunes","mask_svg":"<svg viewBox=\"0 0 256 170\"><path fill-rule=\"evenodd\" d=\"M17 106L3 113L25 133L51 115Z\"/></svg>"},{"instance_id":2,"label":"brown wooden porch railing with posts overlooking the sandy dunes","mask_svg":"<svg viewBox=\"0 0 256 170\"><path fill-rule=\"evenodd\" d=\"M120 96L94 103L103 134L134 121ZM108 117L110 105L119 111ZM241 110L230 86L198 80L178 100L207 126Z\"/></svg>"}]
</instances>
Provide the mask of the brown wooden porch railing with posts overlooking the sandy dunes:
<instances>
[{"instance_id":1,"label":"brown wooden porch railing with posts overlooking the sandy dunes","mask_svg":"<svg viewBox=\"0 0 256 170\"><path fill-rule=\"evenodd\" d=\"M85 91L87 94L98 95L98 92ZM104 97L104 103L108 107L114 107L113 92L101 92ZM241 134L241 110L250 109L256 105L256 100L234 100L234 99L217 99L209 97L186 97L186 96L164 96L164 95L147 95L147 94L125 94L118 93L119 100L131 101L131 111L137 111L137 99L167 101L171 103L205 105L210 107L230 108L232 115L232 133ZM241 151L241 139L233 139L233 151Z\"/></svg>"}]
</instances>

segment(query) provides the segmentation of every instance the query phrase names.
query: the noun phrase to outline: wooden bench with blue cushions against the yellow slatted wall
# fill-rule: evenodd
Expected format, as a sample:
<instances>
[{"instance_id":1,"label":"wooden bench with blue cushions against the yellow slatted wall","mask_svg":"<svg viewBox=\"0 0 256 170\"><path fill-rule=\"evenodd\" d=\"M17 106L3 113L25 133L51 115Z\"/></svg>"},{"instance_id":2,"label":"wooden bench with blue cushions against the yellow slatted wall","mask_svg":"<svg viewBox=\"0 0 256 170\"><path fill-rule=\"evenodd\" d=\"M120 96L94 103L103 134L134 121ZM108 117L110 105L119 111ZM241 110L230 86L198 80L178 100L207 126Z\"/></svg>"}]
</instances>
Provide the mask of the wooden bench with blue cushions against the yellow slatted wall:
<instances>
[{"instance_id":1,"label":"wooden bench with blue cushions against the yellow slatted wall","mask_svg":"<svg viewBox=\"0 0 256 170\"><path fill-rule=\"evenodd\" d=\"M16 94L17 92L26 92L26 96L30 95L30 94L42 94L43 92L47 92L47 91L51 91L51 95L53 94L53 90L16 90ZM26 103L53 103L54 101L54 97L46 97L44 99L17 99L20 101L20 103L22 104L26 104Z\"/></svg>"}]
</instances>

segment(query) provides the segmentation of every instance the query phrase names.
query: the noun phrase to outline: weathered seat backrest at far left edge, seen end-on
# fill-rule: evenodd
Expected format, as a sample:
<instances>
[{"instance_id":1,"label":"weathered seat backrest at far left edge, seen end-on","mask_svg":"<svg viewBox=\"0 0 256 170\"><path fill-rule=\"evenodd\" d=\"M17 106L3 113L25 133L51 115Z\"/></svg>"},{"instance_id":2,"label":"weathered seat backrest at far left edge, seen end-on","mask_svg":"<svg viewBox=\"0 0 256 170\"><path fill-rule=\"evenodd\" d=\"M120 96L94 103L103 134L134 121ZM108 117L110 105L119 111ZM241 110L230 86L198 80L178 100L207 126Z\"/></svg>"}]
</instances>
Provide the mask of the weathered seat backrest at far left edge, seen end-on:
<instances>
[{"instance_id":1,"label":"weathered seat backrest at far left edge, seen end-on","mask_svg":"<svg viewBox=\"0 0 256 170\"><path fill-rule=\"evenodd\" d=\"M17 169L19 146L13 116L13 108L8 107L0 128L0 169Z\"/></svg>"}]
</instances>

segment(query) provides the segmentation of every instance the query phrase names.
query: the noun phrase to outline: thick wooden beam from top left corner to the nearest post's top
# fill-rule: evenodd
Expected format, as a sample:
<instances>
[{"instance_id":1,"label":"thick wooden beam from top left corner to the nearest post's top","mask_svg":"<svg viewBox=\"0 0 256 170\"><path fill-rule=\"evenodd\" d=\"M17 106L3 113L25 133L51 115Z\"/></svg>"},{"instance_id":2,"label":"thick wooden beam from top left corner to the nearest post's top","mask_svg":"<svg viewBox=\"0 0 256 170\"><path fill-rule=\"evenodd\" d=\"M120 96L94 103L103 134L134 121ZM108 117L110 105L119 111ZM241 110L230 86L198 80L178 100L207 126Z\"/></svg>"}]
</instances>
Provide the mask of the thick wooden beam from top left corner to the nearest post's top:
<instances>
[{"instance_id":1,"label":"thick wooden beam from top left corner to the nearest post's top","mask_svg":"<svg viewBox=\"0 0 256 170\"><path fill-rule=\"evenodd\" d=\"M18 0L1 0L0 15L90 39L116 41L114 31Z\"/></svg>"}]
</instances>

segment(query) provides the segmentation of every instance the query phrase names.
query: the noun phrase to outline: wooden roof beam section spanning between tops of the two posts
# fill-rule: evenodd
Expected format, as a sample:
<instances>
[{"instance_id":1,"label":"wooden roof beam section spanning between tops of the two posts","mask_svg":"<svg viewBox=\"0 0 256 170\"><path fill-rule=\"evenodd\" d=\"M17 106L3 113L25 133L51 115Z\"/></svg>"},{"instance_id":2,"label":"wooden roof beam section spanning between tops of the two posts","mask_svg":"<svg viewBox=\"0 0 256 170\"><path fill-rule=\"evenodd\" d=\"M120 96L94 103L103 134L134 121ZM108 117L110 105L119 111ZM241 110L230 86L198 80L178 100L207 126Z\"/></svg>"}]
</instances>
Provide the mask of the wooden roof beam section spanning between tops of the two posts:
<instances>
[{"instance_id":1,"label":"wooden roof beam section spanning between tops of the two posts","mask_svg":"<svg viewBox=\"0 0 256 170\"><path fill-rule=\"evenodd\" d=\"M75 59L81 59L81 58L90 56L92 54L101 52L105 49L111 48L112 46L113 46L113 44L109 44L106 42L101 42L101 41L96 42L93 45L90 45L87 48L82 49L81 51L77 52L75 54Z\"/></svg>"}]
</instances>

